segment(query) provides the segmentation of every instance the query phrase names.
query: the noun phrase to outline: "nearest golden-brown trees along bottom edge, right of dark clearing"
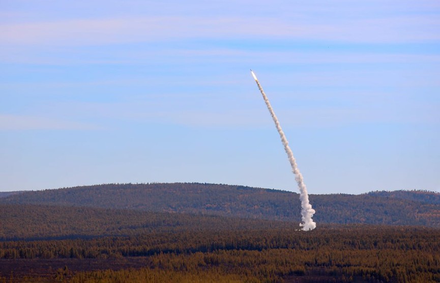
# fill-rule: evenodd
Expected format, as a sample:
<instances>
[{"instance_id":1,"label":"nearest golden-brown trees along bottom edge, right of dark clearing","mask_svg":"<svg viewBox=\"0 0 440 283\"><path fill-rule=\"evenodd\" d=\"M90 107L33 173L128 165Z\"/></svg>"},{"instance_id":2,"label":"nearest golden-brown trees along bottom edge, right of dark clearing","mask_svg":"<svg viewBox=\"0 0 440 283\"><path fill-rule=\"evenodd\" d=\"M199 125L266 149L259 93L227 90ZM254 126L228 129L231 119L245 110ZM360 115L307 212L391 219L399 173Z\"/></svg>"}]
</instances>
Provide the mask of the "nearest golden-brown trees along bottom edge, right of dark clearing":
<instances>
[{"instance_id":1,"label":"nearest golden-brown trees along bottom edge, right of dark clearing","mask_svg":"<svg viewBox=\"0 0 440 283\"><path fill-rule=\"evenodd\" d=\"M433 267L430 260L412 254L395 251L378 255L368 251L328 252L312 250L299 253L295 250L271 249L160 254L151 258L148 268L80 272L70 281L283 282L283 279L294 281L296 278L295 281L301 282L428 283L440 279L438 267ZM422 260L422 264L419 260Z\"/></svg>"}]
</instances>

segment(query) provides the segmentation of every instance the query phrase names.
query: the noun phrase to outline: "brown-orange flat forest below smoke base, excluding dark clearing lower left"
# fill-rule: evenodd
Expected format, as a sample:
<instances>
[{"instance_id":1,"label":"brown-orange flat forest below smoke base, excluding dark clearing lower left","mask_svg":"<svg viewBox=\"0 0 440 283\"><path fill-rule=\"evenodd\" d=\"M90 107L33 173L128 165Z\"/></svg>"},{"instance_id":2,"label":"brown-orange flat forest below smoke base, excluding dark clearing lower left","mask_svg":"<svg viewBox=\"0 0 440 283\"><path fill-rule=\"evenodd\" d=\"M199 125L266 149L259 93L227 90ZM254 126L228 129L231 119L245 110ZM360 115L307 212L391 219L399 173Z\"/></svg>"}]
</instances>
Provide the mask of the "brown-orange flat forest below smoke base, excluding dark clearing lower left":
<instances>
[{"instance_id":1,"label":"brown-orange flat forest below smoke base, excluding dark clearing lower left","mask_svg":"<svg viewBox=\"0 0 440 283\"><path fill-rule=\"evenodd\" d=\"M71 282L177 278L279 282L296 276L314 282L435 282L440 280L440 230L340 226L309 232L207 230L88 240L6 241L0 243L0 257L145 257L144 267L136 270L58 270L51 277Z\"/></svg>"}]
</instances>

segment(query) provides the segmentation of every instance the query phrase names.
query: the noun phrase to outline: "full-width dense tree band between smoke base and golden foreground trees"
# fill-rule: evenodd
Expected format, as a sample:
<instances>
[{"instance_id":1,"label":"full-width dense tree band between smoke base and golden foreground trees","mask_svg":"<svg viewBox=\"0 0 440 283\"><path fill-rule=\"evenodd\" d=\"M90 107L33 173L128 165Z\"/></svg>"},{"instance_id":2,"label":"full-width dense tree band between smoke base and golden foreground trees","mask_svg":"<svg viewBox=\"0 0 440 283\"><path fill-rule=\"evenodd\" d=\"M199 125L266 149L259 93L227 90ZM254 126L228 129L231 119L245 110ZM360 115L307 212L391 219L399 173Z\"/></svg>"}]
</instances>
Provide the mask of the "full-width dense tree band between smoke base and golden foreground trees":
<instances>
[{"instance_id":1,"label":"full-width dense tree band between smoke base and golden foreground trees","mask_svg":"<svg viewBox=\"0 0 440 283\"><path fill-rule=\"evenodd\" d=\"M152 232L128 237L0 242L0 258L108 258L218 250L331 249L425 251L440 256L440 230L411 227L325 227Z\"/></svg>"}]
</instances>

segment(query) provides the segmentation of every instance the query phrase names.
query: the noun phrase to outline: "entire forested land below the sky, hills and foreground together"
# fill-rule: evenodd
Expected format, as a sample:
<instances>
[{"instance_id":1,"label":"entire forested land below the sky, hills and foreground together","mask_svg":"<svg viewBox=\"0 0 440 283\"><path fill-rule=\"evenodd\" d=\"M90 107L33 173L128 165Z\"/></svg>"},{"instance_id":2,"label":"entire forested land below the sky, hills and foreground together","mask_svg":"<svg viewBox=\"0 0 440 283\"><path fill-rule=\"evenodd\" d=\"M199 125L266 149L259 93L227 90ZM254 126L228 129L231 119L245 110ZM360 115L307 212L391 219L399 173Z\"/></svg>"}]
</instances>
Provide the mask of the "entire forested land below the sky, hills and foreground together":
<instances>
[{"instance_id":1,"label":"entire forested land below the sky, hills and foreground together","mask_svg":"<svg viewBox=\"0 0 440 283\"><path fill-rule=\"evenodd\" d=\"M436 196L314 195L321 221L317 212L317 228L305 232L298 194L277 190L23 192L0 198L0 283L439 282Z\"/></svg>"}]
</instances>

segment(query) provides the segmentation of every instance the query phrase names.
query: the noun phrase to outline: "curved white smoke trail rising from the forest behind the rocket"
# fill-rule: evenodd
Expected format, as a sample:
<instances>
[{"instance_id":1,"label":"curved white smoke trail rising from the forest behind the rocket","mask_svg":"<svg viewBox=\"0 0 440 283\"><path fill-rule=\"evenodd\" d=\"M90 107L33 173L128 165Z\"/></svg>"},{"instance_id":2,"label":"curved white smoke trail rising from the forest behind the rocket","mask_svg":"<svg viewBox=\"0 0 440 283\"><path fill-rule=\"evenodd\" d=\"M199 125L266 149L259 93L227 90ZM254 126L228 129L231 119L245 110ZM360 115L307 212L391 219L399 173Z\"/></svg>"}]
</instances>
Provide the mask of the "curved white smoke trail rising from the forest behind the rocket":
<instances>
[{"instance_id":1,"label":"curved white smoke trail rising from the forest behind the rocket","mask_svg":"<svg viewBox=\"0 0 440 283\"><path fill-rule=\"evenodd\" d=\"M269 102L269 99L266 96L265 91L263 91L260 83L258 82L257 77L255 76L252 70L251 70L251 74L255 82L257 83L258 89L260 90L261 95L263 96L263 99L266 102L268 110L271 113L272 119L274 120L275 126L277 127L278 133L280 134L281 142L283 143L284 150L287 154L290 165L292 167L292 172L294 172L295 174L295 180L297 181L298 188L300 189L301 215L303 221L302 223L300 223L300 226L303 227L304 231L313 230L316 228L316 223L312 220L312 216L315 214L315 210L312 208L312 205L309 203L309 194L307 193L306 184L304 184L303 175L298 169L297 161L295 160L294 154L292 153L289 147L289 142L287 141L286 136L284 135L284 132L281 129L280 123L278 122L278 118L275 115L274 110L272 109L271 103Z\"/></svg>"}]
</instances>

